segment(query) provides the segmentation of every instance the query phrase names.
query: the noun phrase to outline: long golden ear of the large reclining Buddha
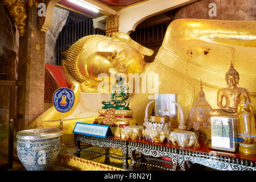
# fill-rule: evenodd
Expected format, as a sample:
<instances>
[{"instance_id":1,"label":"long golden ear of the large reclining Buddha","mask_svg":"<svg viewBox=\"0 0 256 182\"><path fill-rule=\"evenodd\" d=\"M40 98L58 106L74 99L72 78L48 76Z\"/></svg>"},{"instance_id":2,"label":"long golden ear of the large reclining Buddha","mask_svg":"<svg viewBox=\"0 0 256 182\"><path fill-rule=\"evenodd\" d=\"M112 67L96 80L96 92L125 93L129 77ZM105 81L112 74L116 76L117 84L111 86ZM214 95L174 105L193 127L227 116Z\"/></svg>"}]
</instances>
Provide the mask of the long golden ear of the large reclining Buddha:
<instances>
[{"instance_id":1,"label":"long golden ear of the large reclining Buddha","mask_svg":"<svg viewBox=\"0 0 256 182\"><path fill-rule=\"evenodd\" d=\"M140 53L142 53L142 55L145 56L152 56L152 54L154 53L153 50L146 48L144 46L142 46L141 44L135 42L133 39L130 38L129 35L122 33L122 32L114 32L112 34L112 38L113 39L117 39L120 40L122 42L125 42L126 44L128 44L129 46L137 49L137 51L139 51Z\"/></svg>"}]
</instances>

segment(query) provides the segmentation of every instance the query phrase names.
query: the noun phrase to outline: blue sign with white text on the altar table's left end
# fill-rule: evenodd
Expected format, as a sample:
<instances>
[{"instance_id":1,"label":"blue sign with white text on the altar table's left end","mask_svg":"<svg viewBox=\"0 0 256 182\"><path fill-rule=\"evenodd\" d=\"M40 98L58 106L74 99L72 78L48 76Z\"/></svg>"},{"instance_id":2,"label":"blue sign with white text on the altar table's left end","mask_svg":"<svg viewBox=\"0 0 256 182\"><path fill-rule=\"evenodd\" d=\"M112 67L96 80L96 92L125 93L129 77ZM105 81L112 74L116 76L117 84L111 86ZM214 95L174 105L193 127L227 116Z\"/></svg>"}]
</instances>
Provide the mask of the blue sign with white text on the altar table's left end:
<instances>
[{"instance_id":1,"label":"blue sign with white text on the altar table's left end","mask_svg":"<svg viewBox=\"0 0 256 182\"><path fill-rule=\"evenodd\" d=\"M77 122L73 133L107 138L113 136L109 126Z\"/></svg>"}]
</instances>

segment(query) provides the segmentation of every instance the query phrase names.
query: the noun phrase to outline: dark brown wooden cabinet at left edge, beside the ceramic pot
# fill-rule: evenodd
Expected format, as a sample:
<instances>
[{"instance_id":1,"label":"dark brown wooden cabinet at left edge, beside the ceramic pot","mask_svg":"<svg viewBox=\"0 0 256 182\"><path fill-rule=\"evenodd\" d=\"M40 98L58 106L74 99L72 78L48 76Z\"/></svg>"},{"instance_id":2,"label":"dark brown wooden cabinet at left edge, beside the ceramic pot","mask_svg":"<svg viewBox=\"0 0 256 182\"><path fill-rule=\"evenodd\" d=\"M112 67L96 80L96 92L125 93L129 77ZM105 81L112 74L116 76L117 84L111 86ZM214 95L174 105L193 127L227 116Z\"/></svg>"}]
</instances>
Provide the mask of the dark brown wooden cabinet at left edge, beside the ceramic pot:
<instances>
[{"instance_id":1,"label":"dark brown wooden cabinet at left edge, beside the ceramic pot","mask_svg":"<svg viewBox=\"0 0 256 182\"><path fill-rule=\"evenodd\" d=\"M13 167L15 81L0 80L0 169Z\"/></svg>"}]
</instances>

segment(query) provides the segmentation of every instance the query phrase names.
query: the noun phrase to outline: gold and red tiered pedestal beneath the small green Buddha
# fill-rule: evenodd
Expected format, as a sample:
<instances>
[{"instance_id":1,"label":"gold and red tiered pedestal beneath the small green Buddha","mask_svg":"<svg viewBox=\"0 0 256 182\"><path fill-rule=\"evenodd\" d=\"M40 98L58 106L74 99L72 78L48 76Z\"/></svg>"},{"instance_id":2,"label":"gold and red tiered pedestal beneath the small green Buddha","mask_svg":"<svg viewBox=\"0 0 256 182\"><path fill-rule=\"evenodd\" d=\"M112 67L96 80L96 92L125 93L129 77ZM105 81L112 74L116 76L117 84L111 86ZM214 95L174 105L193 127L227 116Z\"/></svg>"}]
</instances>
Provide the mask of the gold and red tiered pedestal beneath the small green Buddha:
<instances>
[{"instance_id":1,"label":"gold and red tiered pedestal beneath the small green Buddha","mask_svg":"<svg viewBox=\"0 0 256 182\"><path fill-rule=\"evenodd\" d=\"M132 110L109 108L100 109L98 113L100 115L94 120L94 124L110 126L115 137L125 138L124 128L138 125L136 119L133 118Z\"/></svg>"}]
</instances>

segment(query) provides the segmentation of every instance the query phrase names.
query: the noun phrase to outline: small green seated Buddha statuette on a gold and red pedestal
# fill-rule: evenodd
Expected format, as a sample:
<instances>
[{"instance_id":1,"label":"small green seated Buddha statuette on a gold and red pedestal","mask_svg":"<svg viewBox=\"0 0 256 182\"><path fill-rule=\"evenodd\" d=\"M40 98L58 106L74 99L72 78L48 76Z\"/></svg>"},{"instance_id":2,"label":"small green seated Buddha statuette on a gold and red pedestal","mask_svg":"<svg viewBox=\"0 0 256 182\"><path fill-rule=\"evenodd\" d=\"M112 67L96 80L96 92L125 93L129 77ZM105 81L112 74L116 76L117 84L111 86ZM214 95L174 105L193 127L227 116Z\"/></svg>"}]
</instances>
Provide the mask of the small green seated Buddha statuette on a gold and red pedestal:
<instances>
[{"instance_id":1,"label":"small green seated Buddha statuette on a gold and red pedestal","mask_svg":"<svg viewBox=\"0 0 256 182\"><path fill-rule=\"evenodd\" d=\"M116 77L117 84L113 86L111 93L111 101L102 101L104 105L102 109L129 110L129 93L127 93L127 84L123 83L122 76Z\"/></svg>"}]
</instances>

